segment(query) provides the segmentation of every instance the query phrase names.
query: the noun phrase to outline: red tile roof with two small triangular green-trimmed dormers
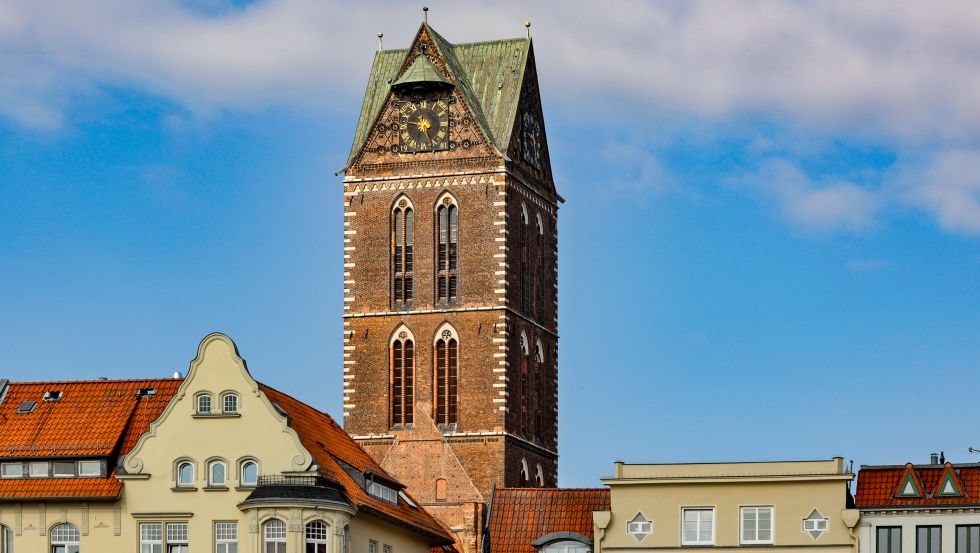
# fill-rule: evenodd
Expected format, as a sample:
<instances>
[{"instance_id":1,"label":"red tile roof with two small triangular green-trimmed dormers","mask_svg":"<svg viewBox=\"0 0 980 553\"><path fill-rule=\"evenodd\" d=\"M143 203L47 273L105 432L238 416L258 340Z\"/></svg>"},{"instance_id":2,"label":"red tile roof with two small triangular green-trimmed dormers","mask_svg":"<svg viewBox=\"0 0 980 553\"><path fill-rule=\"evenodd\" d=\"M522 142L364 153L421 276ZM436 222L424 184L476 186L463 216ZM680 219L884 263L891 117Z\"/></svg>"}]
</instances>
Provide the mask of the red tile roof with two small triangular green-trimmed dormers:
<instances>
[{"instance_id":1,"label":"red tile roof with two small triangular green-trimmed dormers","mask_svg":"<svg viewBox=\"0 0 980 553\"><path fill-rule=\"evenodd\" d=\"M857 506L868 508L980 504L980 464L946 463L944 466L912 466L916 477L922 483L922 497L896 497L895 491L909 466L912 465L861 467L858 472L857 493L854 497ZM956 471L965 496L936 497L934 495L946 466Z\"/></svg>"}]
</instances>

